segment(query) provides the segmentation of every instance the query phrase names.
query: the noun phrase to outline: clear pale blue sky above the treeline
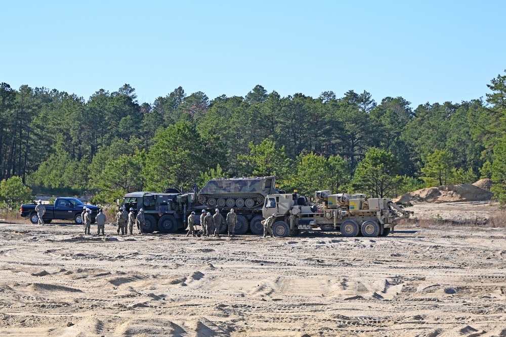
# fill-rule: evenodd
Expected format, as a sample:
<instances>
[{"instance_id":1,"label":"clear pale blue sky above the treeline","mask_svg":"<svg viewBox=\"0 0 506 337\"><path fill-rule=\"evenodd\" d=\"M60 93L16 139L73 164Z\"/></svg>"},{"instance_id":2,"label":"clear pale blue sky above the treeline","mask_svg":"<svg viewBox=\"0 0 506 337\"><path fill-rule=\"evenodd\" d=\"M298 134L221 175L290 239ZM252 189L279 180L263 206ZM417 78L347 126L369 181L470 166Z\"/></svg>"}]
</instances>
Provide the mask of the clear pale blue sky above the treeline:
<instances>
[{"instance_id":1,"label":"clear pale blue sky above the treeline","mask_svg":"<svg viewBox=\"0 0 506 337\"><path fill-rule=\"evenodd\" d=\"M128 83L209 99L348 90L485 97L506 69L504 1L1 1L0 82L86 100Z\"/></svg>"}]
</instances>

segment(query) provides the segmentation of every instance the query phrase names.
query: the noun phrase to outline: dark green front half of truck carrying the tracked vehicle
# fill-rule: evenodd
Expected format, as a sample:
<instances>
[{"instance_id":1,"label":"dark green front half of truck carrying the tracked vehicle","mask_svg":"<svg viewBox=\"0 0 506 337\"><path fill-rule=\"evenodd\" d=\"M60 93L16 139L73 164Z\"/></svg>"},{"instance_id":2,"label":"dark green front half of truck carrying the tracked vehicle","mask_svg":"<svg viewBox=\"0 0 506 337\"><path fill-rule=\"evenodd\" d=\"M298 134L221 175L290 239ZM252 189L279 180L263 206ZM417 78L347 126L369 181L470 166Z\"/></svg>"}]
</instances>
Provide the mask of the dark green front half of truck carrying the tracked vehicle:
<instances>
[{"instance_id":1,"label":"dark green front half of truck carrying the tracked vehicle","mask_svg":"<svg viewBox=\"0 0 506 337\"><path fill-rule=\"evenodd\" d=\"M181 193L170 189L166 193L132 192L123 198L123 205L128 211L133 208L135 213L144 210L146 222L143 227L145 233L159 230L164 233L174 233L186 227L188 215L195 207L195 193ZM195 215L198 222L198 215Z\"/></svg>"}]
</instances>

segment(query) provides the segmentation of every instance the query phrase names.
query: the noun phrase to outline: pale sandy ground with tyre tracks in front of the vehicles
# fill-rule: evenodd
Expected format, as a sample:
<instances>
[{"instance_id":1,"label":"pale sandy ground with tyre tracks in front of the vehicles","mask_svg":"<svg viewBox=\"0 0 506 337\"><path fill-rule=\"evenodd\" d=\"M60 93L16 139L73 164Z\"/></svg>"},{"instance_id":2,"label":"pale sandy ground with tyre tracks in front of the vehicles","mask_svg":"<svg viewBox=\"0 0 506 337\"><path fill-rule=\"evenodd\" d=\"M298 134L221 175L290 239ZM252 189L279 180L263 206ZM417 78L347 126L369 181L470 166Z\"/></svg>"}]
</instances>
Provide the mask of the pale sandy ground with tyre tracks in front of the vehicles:
<instances>
[{"instance_id":1,"label":"pale sandy ground with tyre tracks in front of the vehicles","mask_svg":"<svg viewBox=\"0 0 506 337\"><path fill-rule=\"evenodd\" d=\"M506 336L506 228L80 230L1 224L1 336Z\"/></svg>"}]
</instances>

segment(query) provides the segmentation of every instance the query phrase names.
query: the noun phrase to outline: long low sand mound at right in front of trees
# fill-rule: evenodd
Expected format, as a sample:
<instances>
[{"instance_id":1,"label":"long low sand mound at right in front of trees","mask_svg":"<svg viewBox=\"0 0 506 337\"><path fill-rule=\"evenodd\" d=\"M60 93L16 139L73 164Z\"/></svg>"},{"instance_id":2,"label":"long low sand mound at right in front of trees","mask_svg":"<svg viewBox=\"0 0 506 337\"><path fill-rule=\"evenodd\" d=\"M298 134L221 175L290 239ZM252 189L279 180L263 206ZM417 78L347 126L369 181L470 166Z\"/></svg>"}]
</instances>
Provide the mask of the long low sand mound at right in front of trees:
<instances>
[{"instance_id":1,"label":"long low sand mound at right in front of trees","mask_svg":"<svg viewBox=\"0 0 506 337\"><path fill-rule=\"evenodd\" d=\"M484 180L484 179L482 179ZM396 203L449 203L491 200L493 193L475 184L422 188L394 200Z\"/></svg>"}]
</instances>

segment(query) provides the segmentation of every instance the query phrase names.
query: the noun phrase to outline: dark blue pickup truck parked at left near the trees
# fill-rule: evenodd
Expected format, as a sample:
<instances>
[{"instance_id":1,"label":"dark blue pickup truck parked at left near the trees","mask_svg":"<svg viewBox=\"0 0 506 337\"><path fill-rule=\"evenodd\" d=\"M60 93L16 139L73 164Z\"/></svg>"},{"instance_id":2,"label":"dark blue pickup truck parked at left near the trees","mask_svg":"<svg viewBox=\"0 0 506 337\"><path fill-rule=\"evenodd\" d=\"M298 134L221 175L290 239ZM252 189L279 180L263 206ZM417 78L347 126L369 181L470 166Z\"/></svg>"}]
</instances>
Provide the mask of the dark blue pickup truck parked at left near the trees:
<instances>
[{"instance_id":1,"label":"dark blue pickup truck parked at left near the trees","mask_svg":"<svg viewBox=\"0 0 506 337\"><path fill-rule=\"evenodd\" d=\"M20 215L23 218L30 219L31 223L37 223L38 217L35 206L34 204L21 205ZM44 207L46 207L46 213L42 218L45 223L50 223L53 220L74 220L75 223L82 224L81 213L85 207L92 210L92 223L95 223L98 210L100 209L97 206L85 205L75 198L57 198L54 205L44 205Z\"/></svg>"}]
</instances>

